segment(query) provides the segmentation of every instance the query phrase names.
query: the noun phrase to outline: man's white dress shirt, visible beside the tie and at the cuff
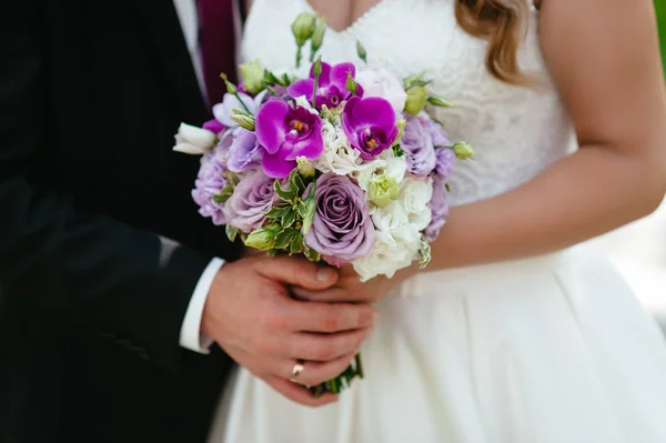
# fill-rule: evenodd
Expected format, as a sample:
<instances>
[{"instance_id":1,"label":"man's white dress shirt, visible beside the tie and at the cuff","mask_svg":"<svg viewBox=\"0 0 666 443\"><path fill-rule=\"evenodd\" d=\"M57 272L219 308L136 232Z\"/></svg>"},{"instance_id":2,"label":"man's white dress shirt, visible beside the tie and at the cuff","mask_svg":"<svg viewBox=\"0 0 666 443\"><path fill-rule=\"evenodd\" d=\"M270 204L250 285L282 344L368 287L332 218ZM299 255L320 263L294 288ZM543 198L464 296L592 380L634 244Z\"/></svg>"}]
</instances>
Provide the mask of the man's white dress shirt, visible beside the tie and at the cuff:
<instances>
[{"instance_id":1,"label":"man's white dress shirt, visible beside the tie and at the cuff","mask_svg":"<svg viewBox=\"0 0 666 443\"><path fill-rule=\"evenodd\" d=\"M173 3L183 29L183 36L188 43L190 57L192 58L194 72L199 80L199 89L205 99L205 83L203 81L201 52L199 51L199 17L196 12L196 0L173 0ZM209 348L213 343L210 338L201 333L201 316L213 279L223 264L224 262L221 259L213 259L201 274L196 286L194 288L194 293L192 294L190 305L188 306L181 326L180 345L185 349L206 354Z\"/></svg>"}]
</instances>

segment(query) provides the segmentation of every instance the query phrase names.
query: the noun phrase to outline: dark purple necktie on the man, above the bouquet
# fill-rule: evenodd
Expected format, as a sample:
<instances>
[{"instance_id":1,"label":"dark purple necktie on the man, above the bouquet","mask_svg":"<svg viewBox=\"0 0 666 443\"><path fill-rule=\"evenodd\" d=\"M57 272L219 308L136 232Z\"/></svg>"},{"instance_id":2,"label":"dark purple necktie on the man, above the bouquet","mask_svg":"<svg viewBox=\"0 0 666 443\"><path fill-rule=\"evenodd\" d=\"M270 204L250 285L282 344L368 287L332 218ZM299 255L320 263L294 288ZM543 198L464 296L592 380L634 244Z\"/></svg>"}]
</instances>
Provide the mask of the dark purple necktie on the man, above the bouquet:
<instances>
[{"instance_id":1,"label":"dark purple necktie on the man, above the bouquet","mask_svg":"<svg viewBox=\"0 0 666 443\"><path fill-rule=\"evenodd\" d=\"M203 79L209 101L214 104L226 92L220 73L235 80L232 0L199 0L199 23Z\"/></svg>"}]
</instances>

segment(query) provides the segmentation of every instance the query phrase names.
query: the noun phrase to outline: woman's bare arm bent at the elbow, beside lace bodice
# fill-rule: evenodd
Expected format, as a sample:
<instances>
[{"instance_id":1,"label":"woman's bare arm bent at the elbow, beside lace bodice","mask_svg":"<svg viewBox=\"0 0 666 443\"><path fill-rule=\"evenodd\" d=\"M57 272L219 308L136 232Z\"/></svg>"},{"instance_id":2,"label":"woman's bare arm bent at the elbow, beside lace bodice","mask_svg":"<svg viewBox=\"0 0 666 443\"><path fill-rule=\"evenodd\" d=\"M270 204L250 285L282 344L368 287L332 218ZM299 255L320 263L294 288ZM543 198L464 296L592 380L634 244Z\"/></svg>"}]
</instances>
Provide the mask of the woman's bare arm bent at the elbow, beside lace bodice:
<instances>
[{"instance_id":1,"label":"woman's bare arm bent at the elbow, beside lace bodice","mask_svg":"<svg viewBox=\"0 0 666 443\"><path fill-rule=\"evenodd\" d=\"M581 149L512 192L454 208L430 270L558 250L649 214L666 192L652 0L543 3L544 57Z\"/></svg>"}]
</instances>

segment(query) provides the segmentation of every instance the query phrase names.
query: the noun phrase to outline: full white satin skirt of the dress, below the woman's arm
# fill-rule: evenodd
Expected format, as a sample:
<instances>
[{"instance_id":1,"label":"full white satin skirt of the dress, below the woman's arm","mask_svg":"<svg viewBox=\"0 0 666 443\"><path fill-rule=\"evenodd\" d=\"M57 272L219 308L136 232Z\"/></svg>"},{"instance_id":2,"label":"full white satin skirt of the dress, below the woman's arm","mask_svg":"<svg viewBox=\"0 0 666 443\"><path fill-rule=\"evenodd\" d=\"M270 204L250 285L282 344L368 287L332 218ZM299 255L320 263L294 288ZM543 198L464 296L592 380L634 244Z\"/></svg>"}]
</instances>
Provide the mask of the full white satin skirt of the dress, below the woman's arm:
<instances>
[{"instance_id":1,"label":"full white satin skirt of the dress, below the woman's arm","mask_svg":"<svg viewBox=\"0 0 666 443\"><path fill-rule=\"evenodd\" d=\"M379 308L336 404L241 369L211 443L666 442L665 340L589 245L424 274Z\"/></svg>"}]
</instances>

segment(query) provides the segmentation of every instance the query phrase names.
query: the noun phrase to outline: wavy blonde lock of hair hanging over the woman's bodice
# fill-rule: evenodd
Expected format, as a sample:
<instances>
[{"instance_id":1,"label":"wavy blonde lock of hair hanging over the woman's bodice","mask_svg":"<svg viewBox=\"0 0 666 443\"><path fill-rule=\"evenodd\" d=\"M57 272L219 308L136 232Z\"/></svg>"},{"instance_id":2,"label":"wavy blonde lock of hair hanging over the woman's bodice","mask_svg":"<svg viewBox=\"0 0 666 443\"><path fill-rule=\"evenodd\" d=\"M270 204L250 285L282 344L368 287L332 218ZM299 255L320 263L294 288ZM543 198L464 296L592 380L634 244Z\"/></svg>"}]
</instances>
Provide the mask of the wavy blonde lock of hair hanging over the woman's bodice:
<instances>
[{"instance_id":1,"label":"wavy blonde lock of hair hanging over the woman's bodice","mask_svg":"<svg viewBox=\"0 0 666 443\"><path fill-rule=\"evenodd\" d=\"M532 1L457 0L455 4L460 26L470 34L488 41L487 70L507 83L531 82L521 71L517 51L527 30Z\"/></svg>"}]
</instances>

